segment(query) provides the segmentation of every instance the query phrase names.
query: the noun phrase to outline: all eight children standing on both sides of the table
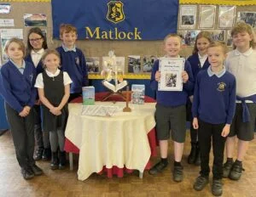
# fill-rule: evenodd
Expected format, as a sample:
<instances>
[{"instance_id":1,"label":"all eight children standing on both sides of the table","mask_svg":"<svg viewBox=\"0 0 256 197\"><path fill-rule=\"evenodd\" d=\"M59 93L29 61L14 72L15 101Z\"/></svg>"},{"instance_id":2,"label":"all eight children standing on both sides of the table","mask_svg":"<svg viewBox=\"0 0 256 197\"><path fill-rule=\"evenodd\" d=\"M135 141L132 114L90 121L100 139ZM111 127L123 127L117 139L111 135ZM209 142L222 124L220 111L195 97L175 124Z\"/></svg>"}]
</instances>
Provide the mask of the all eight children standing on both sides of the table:
<instances>
[{"instance_id":1,"label":"all eight children standing on both sides of the table","mask_svg":"<svg viewBox=\"0 0 256 197\"><path fill-rule=\"evenodd\" d=\"M212 42L209 32L199 33L194 52L185 61L183 91L158 91L159 60L154 62L150 86L156 90L155 121L161 160L149 174L156 175L168 166L168 139L172 130L173 180L183 180L181 160L186 116L189 116L191 152L188 162L201 165L201 175L196 178L194 189L201 190L209 182L211 140L212 194L222 194L222 177L234 180L241 177L241 162L255 127L256 51L250 25L237 23L231 36L234 50L228 53L223 42ZM25 179L43 173L35 160L51 157L51 169L63 169L67 103L79 97L82 87L88 85L84 54L75 46L76 28L61 25L60 37L61 47L47 49L44 33L36 27L28 33L27 50L17 38L10 39L5 47L9 61L1 68L0 93L5 100L16 157ZM179 58L181 49L181 37L166 36L166 57ZM234 162L235 136L238 151ZM33 158L35 139L38 149ZM223 166L225 142L227 161Z\"/></svg>"}]
</instances>

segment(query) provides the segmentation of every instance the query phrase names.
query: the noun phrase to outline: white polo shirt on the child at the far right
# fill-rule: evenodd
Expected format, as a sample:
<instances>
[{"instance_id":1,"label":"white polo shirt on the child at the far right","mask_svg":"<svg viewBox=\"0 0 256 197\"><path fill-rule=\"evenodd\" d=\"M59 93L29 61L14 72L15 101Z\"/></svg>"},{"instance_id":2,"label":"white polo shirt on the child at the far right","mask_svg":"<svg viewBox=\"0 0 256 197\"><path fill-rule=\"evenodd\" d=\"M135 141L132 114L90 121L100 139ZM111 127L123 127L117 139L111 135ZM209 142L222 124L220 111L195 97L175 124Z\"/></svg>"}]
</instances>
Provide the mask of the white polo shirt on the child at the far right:
<instances>
[{"instance_id":1,"label":"white polo shirt on the child at the far right","mask_svg":"<svg viewBox=\"0 0 256 197\"><path fill-rule=\"evenodd\" d=\"M225 65L236 76L237 96L256 94L256 50L249 48L245 53L240 53L237 49L230 51Z\"/></svg>"}]
</instances>

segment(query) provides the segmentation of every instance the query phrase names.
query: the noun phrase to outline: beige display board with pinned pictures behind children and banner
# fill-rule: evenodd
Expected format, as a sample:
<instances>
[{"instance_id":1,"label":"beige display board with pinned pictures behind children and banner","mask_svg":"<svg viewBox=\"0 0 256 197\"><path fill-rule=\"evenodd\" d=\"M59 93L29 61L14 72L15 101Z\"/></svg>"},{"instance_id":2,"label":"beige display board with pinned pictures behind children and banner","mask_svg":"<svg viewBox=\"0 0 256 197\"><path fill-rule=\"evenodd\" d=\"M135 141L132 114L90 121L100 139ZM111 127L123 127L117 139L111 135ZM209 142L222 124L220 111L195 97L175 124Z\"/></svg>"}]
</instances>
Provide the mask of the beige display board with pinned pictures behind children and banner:
<instances>
[{"instance_id":1,"label":"beige display board with pinned pictures behind children and banner","mask_svg":"<svg viewBox=\"0 0 256 197\"><path fill-rule=\"evenodd\" d=\"M24 42L26 43L26 35L28 30L31 28L30 25L35 25L31 23L31 18L34 17L36 20L43 19L41 22L41 29L46 31L47 42L49 48L56 48L61 45L61 41L52 38L52 14L51 14L51 3L49 1L40 2L14 2L14 1L0 1L1 5L9 4L10 12L9 14L0 14L0 30L3 29L21 29L22 37L24 37ZM184 5L189 6L189 8L184 7ZM194 7L193 7L194 6ZM179 34L189 37L188 31L190 31L190 41L185 42L181 55L183 57L188 57L192 53L193 49L193 37L195 39L196 31L207 30L212 32L212 36L216 38L222 38L224 42L230 44L228 38L230 29L230 13L234 12L235 18L234 23L237 21L237 17L247 18L252 16L253 21L256 21L256 5L251 6L236 6L235 9L229 9L221 7L220 5L202 5L202 4L183 4L179 9L183 8L183 12L179 10L179 16L177 21L177 31ZM0 6L1 11L1 6ZM72 10L70 10L72 11ZM195 13L193 15L193 12ZM209 18L209 21L205 23L201 19L206 17L201 13L213 14ZM250 14L252 13L252 14ZM219 15L223 15L223 20L219 20ZM238 15L240 14L240 15ZM228 17L225 20L225 17ZM224 20L228 28L224 25ZM39 22L38 22L39 23ZM192 24L192 25L191 25ZM5 25L5 26L4 26ZM37 24L38 25L38 24ZM45 25L45 26L44 26ZM152 24L154 27L154 24ZM255 22L256 28L256 22ZM188 40L188 39L187 39ZM4 40L2 40L4 42ZM2 47L4 43L1 44L1 59L3 62ZM149 78L150 69L144 69L143 66L147 63L154 62L154 59L164 55L163 51L163 41L108 41L108 40L79 40L77 42L77 47L81 48L85 54L85 57L91 59L98 59L97 61L92 61L89 63L92 67L98 66L95 74L91 74L95 78L100 78L99 72L102 70L102 57L108 56L109 50L114 50L117 57L125 58L125 73L129 73L131 78ZM231 49L231 47L230 47ZM133 71L129 70L129 66L138 64L141 66L140 70ZM146 67L145 67L146 68ZM92 69L94 70L94 69Z\"/></svg>"}]
</instances>

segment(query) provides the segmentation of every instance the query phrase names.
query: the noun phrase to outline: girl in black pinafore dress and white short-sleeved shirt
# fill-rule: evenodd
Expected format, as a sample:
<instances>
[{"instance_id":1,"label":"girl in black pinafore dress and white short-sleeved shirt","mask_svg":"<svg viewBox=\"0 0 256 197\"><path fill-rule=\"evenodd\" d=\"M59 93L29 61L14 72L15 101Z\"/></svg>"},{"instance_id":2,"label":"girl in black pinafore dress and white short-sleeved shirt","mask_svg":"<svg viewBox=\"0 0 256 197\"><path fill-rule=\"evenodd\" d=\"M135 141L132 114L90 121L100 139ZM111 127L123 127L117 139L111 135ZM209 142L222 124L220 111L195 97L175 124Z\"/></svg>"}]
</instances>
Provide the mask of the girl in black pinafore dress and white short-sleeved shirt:
<instances>
[{"instance_id":1,"label":"girl in black pinafore dress and white short-sleeved shirt","mask_svg":"<svg viewBox=\"0 0 256 197\"><path fill-rule=\"evenodd\" d=\"M44 72L37 77L35 87L42 102L43 129L49 131L50 149L52 151L50 168L63 169L66 165L65 126L67 122L67 101L72 83L67 72L58 69L60 55L55 50L45 50L42 61ZM58 155L58 147L60 153Z\"/></svg>"}]
</instances>

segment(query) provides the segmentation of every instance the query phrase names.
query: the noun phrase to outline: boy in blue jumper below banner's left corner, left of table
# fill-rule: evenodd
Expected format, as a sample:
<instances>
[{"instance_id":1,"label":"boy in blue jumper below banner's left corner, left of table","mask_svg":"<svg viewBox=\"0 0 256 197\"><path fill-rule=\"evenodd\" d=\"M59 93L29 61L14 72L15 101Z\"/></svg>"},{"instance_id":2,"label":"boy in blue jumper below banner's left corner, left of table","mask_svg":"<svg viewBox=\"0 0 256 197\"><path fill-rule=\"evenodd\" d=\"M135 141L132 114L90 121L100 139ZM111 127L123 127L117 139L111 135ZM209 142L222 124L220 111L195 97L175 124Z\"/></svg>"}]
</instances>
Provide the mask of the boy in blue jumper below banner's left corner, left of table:
<instances>
[{"instance_id":1,"label":"boy in blue jumper below banner's left corner, left of table","mask_svg":"<svg viewBox=\"0 0 256 197\"><path fill-rule=\"evenodd\" d=\"M88 72L84 53L75 46L78 38L76 27L69 24L61 25L60 37L62 46L56 50L61 55L61 70L66 71L73 81L68 100L71 101L81 96L82 87L88 86Z\"/></svg>"}]
</instances>

